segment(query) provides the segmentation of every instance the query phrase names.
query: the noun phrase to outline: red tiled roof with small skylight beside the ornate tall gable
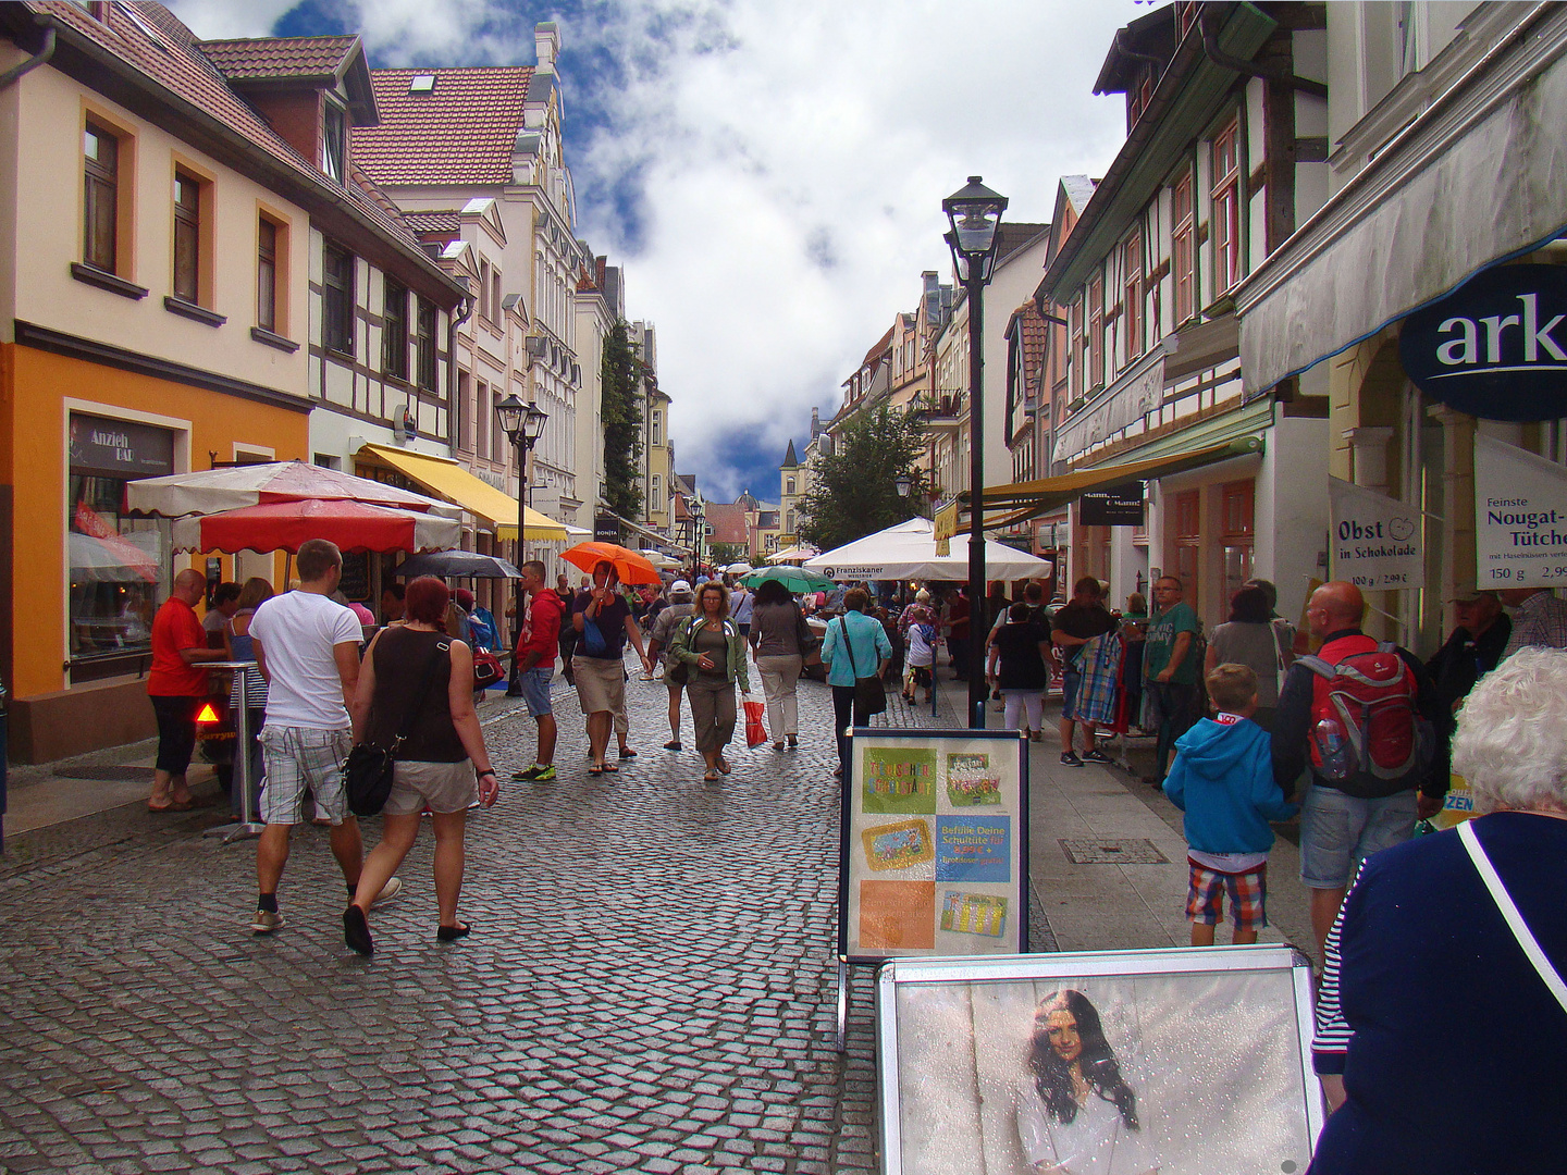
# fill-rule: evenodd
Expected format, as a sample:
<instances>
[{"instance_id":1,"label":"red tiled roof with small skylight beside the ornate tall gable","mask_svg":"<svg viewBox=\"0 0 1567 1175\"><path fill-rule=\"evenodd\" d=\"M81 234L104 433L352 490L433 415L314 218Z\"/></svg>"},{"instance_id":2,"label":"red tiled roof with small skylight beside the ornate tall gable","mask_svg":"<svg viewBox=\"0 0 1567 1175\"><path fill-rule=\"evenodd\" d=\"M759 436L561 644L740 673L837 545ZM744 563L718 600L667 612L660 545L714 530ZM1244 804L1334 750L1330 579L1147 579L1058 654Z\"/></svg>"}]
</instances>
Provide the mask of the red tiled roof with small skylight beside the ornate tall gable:
<instances>
[{"instance_id":1,"label":"red tiled roof with small skylight beside the ornate tall gable","mask_svg":"<svg viewBox=\"0 0 1567 1175\"><path fill-rule=\"evenodd\" d=\"M422 75L428 94L411 94ZM354 157L376 183L509 183L528 100L528 66L373 69L381 125L354 132Z\"/></svg>"}]
</instances>

